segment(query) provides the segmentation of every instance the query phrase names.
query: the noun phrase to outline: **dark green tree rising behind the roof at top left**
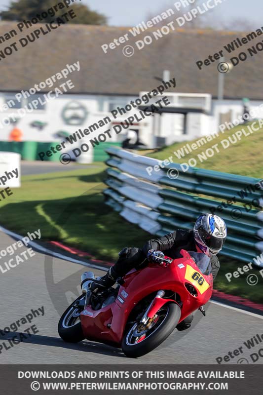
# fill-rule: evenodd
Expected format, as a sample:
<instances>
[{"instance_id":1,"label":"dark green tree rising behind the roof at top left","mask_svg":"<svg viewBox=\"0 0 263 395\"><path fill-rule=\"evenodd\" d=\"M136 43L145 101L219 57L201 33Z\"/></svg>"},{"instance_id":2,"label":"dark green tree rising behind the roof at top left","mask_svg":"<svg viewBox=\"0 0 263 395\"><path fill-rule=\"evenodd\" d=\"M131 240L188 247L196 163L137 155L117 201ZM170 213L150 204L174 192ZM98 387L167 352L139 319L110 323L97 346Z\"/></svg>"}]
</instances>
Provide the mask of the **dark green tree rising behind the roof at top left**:
<instances>
[{"instance_id":1,"label":"dark green tree rising behind the roof at top left","mask_svg":"<svg viewBox=\"0 0 263 395\"><path fill-rule=\"evenodd\" d=\"M96 11L92 11L88 6L83 4L72 4L69 8L61 8L54 11L54 0L18 0L11 1L9 8L6 11L0 12L0 18L5 21L23 21L31 20L36 17L36 15L41 15L42 12L47 14L40 23L50 23L54 21L54 18L57 18L68 9L74 9L76 18L69 18L68 23L81 23L85 25L106 25L107 17L103 14L99 14ZM63 4L63 3L61 3ZM53 12L52 12L53 10Z\"/></svg>"}]
</instances>

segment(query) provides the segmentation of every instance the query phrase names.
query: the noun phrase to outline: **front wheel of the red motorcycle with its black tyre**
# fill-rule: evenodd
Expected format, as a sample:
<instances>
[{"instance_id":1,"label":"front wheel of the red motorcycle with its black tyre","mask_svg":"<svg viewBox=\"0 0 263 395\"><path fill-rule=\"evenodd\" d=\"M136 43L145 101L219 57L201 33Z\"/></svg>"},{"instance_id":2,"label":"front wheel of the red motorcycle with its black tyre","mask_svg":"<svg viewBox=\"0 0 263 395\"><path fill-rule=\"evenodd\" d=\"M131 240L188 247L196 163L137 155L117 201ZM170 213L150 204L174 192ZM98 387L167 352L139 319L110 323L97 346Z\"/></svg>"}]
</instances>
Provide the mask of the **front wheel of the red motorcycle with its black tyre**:
<instances>
[{"instance_id":1,"label":"front wheel of the red motorcycle with its black tyre","mask_svg":"<svg viewBox=\"0 0 263 395\"><path fill-rule=\"evenodd\" d=\"M167 302L153 317L149 328L143 328L137 322L128 329L121 344L123 353L131 358L150 353L170 336L180 317L180 307L176 303Z\"/></svg>"}]
</instances>

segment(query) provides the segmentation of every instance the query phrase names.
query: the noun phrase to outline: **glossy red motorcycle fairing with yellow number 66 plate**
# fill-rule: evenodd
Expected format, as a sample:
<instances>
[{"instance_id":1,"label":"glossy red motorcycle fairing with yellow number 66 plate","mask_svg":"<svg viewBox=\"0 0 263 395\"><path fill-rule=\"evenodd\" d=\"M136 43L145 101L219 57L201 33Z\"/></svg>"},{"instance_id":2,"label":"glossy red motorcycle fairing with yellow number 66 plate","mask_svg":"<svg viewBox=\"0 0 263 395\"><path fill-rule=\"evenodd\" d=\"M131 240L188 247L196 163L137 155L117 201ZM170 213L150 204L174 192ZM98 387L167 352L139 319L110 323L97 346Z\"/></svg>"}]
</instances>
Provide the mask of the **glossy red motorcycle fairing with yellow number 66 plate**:
<instances>
[{"instance_id":1,"label":"glossy red motorcycle fairing with yellow number 66 plate","mask_svg":"<svg viewBox=\"0 0 263 395\"><path fill-rule=\"evenodd\" d=\"M171 291L171 295L173 293L179 295L181 306L179 322L205 305L212 296L213 277L211 274L203 275L187 251L182 250L181 254L183 258L175 259L170 265L149 264L143 270L129 272L124 277L125 282L120 286L115 302L111 305L98 311L88 306L81 313L85 337L120 346L129 315L146 296L153 294L153 303L148 312L150 318L168 301L178 303L172 298L154 298L159 290L168 290ZM194 287L195 296L190 293L186 284ZM107 325L110 327L108 328Z\"/></svg>"}]
</instances>

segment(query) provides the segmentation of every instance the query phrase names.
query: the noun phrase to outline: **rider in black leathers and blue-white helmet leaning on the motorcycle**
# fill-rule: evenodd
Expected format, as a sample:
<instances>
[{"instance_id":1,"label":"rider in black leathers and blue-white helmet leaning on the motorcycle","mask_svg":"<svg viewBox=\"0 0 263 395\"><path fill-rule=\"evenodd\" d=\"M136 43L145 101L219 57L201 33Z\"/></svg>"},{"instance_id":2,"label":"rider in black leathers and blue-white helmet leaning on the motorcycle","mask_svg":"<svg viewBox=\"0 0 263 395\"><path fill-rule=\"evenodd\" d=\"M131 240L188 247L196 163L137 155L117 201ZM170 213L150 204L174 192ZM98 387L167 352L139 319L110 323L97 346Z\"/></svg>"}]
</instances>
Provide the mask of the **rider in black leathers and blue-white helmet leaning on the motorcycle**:
<instances>
[{"instance_id":1,"label":"rider in black leathers and blue-white helmet leaning on the motorcycle","mask_svg":"<svg viewBox=\"0 0 263 395\"><path fill-rule=\"evenodd\" d=\"M192 231L177 230L160 238L149 240L143 248L125 247L108 273L90 284L93 292L110 288L118 277L125 276L131 269L147 266L147 262L160 262L164 255L180 258L181 249L202 252L210 257L213 279L216 278L220 264L216 256L222 249L226 238L226 226L222 218L212 214L200 215ZM177 325L178 330L191 326L191 314Z\"/></svg>"}]
</instances>

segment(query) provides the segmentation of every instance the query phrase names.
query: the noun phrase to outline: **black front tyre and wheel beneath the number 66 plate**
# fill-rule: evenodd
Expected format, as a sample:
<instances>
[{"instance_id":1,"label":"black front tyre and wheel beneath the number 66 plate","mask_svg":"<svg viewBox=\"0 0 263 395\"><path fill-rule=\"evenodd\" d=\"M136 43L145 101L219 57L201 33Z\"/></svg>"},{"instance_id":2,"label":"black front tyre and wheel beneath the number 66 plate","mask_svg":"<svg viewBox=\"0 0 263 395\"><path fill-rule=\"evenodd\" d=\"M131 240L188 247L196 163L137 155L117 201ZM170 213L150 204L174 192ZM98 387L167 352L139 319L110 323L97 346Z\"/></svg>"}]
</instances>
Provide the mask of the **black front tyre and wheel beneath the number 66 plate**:
<instances>
[{"instance_id":1,"label":"black front tyre and wheel beneath the number 66 plate","mask_svg":"<svg viewBox=\"0 0 263 395\"><path fill-rule=\"evenodd\" d=\"M180 307L173 302L167 302L157 313L163 312L163 309L167 309L166 316L163 318L161 323L156 324L156 328L152 328L153 331L148 334L144 339L138 341L138 343L132 343L133 333L137 333L137 329L139 324L135 324L128 329L125 333L121 348L123 353L126 356L131 358L138 358L145 354L150 353L156 347L158 347L168 336L173 332L178 324L180 317L181 317L181 309Z\"/></svg>"}]
</instances>

